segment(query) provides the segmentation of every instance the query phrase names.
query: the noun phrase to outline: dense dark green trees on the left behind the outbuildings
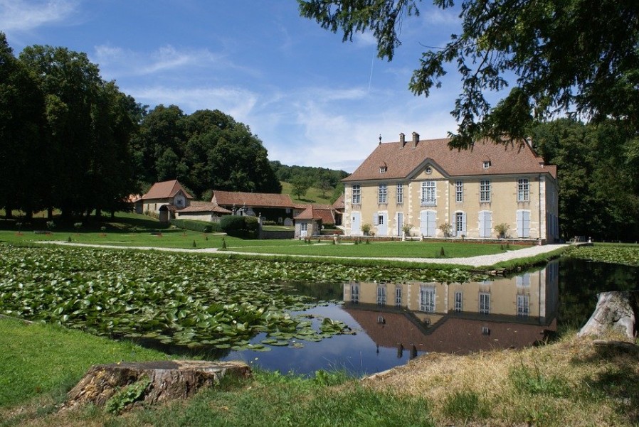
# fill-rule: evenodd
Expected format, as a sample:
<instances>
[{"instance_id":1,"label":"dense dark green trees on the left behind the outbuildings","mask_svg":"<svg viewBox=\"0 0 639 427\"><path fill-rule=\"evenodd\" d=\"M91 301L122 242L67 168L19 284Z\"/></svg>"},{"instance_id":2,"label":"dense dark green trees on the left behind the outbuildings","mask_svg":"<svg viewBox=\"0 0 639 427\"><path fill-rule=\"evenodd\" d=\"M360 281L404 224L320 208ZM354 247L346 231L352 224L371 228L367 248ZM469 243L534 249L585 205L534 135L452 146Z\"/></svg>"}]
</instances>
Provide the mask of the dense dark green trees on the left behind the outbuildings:
<instances>
[{"instance_id":1,"label":"dense dark green trees on the left behind the outbuildings","mask_svg":"<svg viewBox=\"0 0 639 427\"><path fill-rule=\"evenodd\" d=\"M127 195L179 179L279 193L262 141L218 110L152 110L100 77L85 53L34 45L16 58L0 33L0 209L113 212Z\"/></svg>"}]
</instances>

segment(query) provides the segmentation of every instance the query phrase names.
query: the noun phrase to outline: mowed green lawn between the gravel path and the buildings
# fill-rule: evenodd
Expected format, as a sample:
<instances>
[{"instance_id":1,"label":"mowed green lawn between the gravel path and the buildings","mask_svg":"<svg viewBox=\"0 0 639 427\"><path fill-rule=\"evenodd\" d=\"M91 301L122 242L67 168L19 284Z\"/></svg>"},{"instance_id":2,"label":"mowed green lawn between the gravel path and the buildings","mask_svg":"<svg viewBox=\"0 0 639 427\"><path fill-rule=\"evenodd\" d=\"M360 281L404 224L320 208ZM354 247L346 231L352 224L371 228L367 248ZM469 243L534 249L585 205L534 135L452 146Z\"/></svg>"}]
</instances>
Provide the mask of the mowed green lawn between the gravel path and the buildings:
<instances>
[{"instance_id":1,"label":"mowed green lawn between the gravel path and the buildings","mask_svg":"<svg viewBox=\"0 0 639 427\"><path fill-rule=\"evenodd\" d=\"M43 241L102 244L122 247L160 247L179 249L223 249L232 252L254 252L279 255L356 256L392 258L463 258L498 254L521 246L480 244L470 242L380 242L362 239L361 244L331 240L306 243L296 239L249 240L220 233L201 233L164 225L153 218L133 213L117 212L112 220L92 220L81 227L58 225L48 229L46 220L37 219L30 225L16 226L17 221L0 221L0 243L33 244ZM48 232L49 234L41 234Z\"/></svg>"}]
</instances>

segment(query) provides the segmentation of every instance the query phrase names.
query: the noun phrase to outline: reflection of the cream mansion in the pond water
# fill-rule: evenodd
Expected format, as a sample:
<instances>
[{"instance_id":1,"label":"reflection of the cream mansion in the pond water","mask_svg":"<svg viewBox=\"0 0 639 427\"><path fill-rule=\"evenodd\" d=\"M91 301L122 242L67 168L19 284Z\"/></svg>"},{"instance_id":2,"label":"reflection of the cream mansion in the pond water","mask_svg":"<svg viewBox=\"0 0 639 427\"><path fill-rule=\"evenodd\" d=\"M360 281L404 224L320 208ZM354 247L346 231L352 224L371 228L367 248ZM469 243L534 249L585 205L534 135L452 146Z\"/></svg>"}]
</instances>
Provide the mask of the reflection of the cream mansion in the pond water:
<instances>
[{"instance_id":1,"label":"reflection of the cream mansion in the pond water","mask_svg":"<svg viewBox=\"0 0 639 427\"><path fill-rule=\"evenodd\" d=\"M347 283L344 310L398 356L526 347L556 331L558 271L554 261L495 281Z\"/></svg>"}]
</instances>

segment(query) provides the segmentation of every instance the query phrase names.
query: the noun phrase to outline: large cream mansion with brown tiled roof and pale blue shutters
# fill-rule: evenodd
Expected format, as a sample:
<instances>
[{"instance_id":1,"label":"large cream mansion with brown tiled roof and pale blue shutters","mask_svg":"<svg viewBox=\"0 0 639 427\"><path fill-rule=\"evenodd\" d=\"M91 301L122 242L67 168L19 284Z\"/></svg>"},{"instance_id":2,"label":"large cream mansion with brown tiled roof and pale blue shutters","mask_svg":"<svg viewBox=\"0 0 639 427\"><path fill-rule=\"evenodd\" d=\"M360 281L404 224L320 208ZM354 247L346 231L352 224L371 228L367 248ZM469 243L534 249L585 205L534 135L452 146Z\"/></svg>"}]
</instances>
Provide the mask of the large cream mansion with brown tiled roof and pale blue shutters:
<instances>
[{"instance_id":1,"label":"large cream mansion with brown tiled roof and pale blue shutters","mask_svg":"<svg viewBox=\"0 0 639 427\"><path fill-rule=\"evenodd\" d=\"M346 234L361 235L368 224L376 236L402 237L406 227L423 238L559 237L556 168L527 144L452 152L446 140L413 144L379 144L344 179ZM398 165L403 158L413 165ZM497 225L505 225L505 235Z\"/></svg>"}]
</instances>

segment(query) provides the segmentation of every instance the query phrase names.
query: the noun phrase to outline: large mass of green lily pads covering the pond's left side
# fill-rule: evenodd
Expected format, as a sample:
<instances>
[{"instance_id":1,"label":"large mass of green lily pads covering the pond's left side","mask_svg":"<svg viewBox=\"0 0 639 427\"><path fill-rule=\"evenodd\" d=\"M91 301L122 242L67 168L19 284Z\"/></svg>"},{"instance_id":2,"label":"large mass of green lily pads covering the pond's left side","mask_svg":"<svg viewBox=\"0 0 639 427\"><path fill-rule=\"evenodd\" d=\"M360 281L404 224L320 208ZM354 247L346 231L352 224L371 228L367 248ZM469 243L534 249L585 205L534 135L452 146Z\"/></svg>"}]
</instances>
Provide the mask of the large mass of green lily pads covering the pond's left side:
<instances>
[{"instance_id":1,"label":"large mass of green lily pads covering the pond's left side","mask_svg":"<svg viewBox=\"0 0 639 427\"><path fill-rule=\"evenodd\" d=\"M292 315L317 302L287 292L286 281L371 280L377 274L197 254L0 245L0 313L97 335L266 350L263 345L294 346L350 333L335 320L312 328L301 315ZM262 345L249 345L259 333L265 333Z\"/></svg>"}]
</instances>

